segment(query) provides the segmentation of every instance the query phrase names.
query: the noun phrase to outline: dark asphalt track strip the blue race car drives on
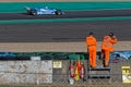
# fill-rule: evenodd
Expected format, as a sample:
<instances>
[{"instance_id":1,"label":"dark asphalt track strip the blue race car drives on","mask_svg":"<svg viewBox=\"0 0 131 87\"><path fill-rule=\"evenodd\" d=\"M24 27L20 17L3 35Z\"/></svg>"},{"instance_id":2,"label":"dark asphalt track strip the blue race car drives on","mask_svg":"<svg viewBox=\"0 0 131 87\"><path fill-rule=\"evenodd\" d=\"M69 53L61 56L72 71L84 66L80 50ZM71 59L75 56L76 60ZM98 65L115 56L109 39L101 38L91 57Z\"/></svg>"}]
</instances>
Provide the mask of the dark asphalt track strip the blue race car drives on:
<instances>
[{"instance_id":1,"label":"dark asphalt track strip the blue race car drives on","mask_svg":"<svg viewBox=\"0 0 131 87\"><path fill-rule=\"evenodd\" d=\"M26 13L0 13L0 20L33 20L33 18L76 18L76 17L108 17L131 16L131 10L102 11L66 11L64 15L27 15Z\"/></svg>"}]
</instances>

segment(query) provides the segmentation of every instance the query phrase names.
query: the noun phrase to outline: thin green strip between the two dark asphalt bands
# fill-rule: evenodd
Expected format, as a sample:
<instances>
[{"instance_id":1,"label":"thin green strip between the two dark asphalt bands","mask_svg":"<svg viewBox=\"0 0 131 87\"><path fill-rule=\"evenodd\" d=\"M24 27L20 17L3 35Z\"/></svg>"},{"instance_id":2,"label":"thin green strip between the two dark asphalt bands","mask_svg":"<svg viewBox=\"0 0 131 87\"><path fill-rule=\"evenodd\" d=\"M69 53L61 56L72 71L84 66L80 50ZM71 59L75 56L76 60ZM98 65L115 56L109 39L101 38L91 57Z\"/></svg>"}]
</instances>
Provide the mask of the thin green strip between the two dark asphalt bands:
<instances>
[{"instance_id":1,"label":"thin green strip between the two dark asphalt bands","mask_svg":"<svg viewBox=\"0 0 131 87\"><path fill-rule=\"evenodd\" d=\"M31 24L31 23L53 23L53 22L99 22L99 21L123 21L131 20L128 17L84 17L84 18L57 18L57 20L12 20L0 21L0 24Z\"/></svg>"}]
</instances>

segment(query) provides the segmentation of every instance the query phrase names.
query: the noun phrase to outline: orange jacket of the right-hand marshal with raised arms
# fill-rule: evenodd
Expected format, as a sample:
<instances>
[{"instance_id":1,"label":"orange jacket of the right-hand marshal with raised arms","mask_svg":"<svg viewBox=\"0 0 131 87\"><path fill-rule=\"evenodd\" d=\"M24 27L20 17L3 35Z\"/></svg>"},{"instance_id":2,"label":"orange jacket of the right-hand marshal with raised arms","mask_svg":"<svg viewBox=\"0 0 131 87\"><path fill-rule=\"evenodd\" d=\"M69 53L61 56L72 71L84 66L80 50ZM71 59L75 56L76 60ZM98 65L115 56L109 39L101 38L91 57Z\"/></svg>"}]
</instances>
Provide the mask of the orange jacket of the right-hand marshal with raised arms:
<instances>
[{"instance_id":1,"label":"orange jacket of the right-hand marshal with raised arms","mask_svg":"<svg viewBox=\"0 0 131 87\"><path fill-rule=\"evenodd\" d=\"M110 36L105 36L102 42L102 50L114 51L114 44L117 44L117 38L111 38Z\"/></svg>"}]
</instances>

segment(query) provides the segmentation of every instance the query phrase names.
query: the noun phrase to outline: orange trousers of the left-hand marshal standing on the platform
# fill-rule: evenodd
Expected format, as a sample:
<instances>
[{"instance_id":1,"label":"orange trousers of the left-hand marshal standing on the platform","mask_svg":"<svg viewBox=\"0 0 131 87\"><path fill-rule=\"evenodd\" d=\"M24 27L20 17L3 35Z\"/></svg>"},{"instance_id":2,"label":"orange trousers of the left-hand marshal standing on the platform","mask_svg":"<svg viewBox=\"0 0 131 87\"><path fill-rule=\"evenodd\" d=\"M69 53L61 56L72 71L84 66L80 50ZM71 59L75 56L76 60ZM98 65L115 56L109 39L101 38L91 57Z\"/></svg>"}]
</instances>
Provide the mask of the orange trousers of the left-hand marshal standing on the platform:
<instances>
[{"instance_id":1,"label":"orange trousers of the left-hand marshal standing on the platform","mask_svg":"<svg viewBox=\"0 0 131 87\"><path fill-rule=\"evenodd\" d=\"M96 67L96 49L88 49L90 53L90 65Z\"/></svg>"}]
</instances>

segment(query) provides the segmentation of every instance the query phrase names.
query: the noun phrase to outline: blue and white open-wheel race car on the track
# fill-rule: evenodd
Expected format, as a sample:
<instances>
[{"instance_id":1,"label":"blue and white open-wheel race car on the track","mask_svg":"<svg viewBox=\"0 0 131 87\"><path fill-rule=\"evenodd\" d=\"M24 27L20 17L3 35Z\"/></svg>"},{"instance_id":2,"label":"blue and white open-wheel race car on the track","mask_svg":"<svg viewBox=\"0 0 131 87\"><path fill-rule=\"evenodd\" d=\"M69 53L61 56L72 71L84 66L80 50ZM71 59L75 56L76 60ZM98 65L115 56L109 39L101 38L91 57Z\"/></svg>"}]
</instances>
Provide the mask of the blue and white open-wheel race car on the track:
<instances>
[{"instance_id":1,"label":"blue and white open-wheel race car on the track","mask_svg":"<svg viewBox=\"0 0 131 87\"><path fill-rule=\"evenodd\" d=\"M64 14L63 11L58 10L58 9L49 9L48 7L44 8L28 8L25 7L27 14L29 15L39 15L39 14L52 14L52 15L62 15Z\"/></svg>"}]
</instances>

